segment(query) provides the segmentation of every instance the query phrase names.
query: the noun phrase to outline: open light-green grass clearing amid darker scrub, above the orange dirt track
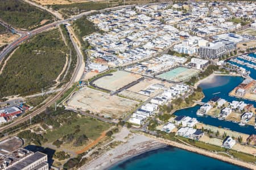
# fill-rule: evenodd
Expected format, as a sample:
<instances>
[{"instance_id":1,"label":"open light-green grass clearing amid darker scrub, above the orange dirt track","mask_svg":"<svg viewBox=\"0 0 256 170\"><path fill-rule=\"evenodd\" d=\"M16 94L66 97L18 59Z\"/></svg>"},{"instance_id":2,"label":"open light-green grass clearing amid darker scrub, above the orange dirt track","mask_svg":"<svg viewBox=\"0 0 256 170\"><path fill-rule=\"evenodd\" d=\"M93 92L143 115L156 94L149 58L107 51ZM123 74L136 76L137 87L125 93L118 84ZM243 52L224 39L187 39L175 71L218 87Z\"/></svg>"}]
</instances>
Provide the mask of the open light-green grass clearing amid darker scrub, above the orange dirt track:
<instances>
[{"instance_id":1,"label":"open light-green grass clearing amid darker scrub, above the orange dirt track","mask_svg":"<svg viewBox=\"0 0 256 170\"><path fill-rule=\"evenodd\" d=\"M77 125L80 126L79 133L75 133L75 126ZM47 131L44 137L48 139L48 142L54 142L64 135L75 133L76 138L79 137L79 135L85 134L86 137L95 140L100 137L102 131L105 131L109 128L110 125L106 124L105 122L98 121L94 118L81 117L77 118L77 121L72 122L70 125L64 125L60 128L57 128L56 130Z\"/></svg>"}]
</instances>

